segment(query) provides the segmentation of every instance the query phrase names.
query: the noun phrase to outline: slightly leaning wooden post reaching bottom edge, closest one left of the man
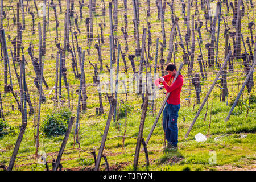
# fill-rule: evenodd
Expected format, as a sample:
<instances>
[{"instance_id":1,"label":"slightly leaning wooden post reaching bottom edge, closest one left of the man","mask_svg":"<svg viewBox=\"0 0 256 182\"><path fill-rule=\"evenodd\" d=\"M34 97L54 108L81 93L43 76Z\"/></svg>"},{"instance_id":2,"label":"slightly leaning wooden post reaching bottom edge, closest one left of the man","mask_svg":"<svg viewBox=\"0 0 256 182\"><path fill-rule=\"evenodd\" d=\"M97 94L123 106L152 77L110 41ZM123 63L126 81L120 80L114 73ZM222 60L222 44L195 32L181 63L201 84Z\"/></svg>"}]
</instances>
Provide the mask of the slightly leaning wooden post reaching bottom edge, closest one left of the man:
<instances>
[{"instance_id":1,"label":"slightly leaning wooden post reaching bottom edge, closest one left of the man","mask_svg":"<svg viewBox=\"0 0 256 182\"><path fill-rule=\"evenodd\" d=\"M140 122L140 125L139 125L139 133L138 133L138 137L137 137L137 144L136 144L136 149L135 149L135 154L134 154L133 168L135 170L138 167L139 151L141 149L144 122L145 122L146 114L147 114L147 105L148 105L148 93L146 93L146 96L145 96L145 99L144 99L144 102L143 102L141 122Z\"/></svg>"}]
</instances>

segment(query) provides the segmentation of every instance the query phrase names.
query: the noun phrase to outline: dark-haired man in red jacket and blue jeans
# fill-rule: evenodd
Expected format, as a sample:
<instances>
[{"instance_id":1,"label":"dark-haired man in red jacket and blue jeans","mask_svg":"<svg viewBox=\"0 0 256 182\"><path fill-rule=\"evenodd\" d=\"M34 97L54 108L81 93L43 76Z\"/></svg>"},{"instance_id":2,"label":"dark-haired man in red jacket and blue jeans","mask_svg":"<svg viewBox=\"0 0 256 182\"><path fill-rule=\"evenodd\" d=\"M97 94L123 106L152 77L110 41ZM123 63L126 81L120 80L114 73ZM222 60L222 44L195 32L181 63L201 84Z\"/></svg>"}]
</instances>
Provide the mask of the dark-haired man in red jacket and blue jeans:
<instances>
[{"instance_id":1,"label":"dark-haired man in red jacket and blue jeans","mask_svg":"<svg viewBox=\"0 0 256 182\"><path fill-rule=\"evenodd\" d=\"M174 63L169 63L166 66L168 75L164 75L155 80L156 86L159 88L165 88L167 93L171 92L166 106L163 110L163 128L168 142L167 148L177 149L178 143L178 128L177 118L180 109L180 92L183 85L183 76L177 76L176 81L172 84L175 75L177 74L177 68ZM163 85L160 85L162 83Z\"/></svg>"}]
</instances>

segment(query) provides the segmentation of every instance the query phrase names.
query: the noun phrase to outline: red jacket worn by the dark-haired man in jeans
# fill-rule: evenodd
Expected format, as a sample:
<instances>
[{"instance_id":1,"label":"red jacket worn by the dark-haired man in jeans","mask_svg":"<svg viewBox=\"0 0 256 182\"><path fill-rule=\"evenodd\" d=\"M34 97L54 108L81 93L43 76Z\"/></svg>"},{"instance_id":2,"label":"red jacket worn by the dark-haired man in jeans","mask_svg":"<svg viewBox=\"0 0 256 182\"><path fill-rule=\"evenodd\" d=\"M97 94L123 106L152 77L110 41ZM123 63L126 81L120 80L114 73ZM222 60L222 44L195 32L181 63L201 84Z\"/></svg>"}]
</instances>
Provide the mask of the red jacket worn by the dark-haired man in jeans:
<instances>
[{"instance_id":1,"label":"red jacket worn by the dark-haired man in jeans","mask_svg":"<svg viewBox=\"0 0 256 182\"><path fill-rule=\"evenodd\" d=\"M167 93L171 92L167 100L167 103L177 105L180 104L180 92L183 85L183 76L179 75L176 81L173 84L171 84L171 86L169 86L167 82L170 81L171 77L172 79L174 79L174 76L171 76L170 74L164 75L164 82L162 82L162 84L164 85L164 88L166 89Z\"/></svg>"}]
</instances>

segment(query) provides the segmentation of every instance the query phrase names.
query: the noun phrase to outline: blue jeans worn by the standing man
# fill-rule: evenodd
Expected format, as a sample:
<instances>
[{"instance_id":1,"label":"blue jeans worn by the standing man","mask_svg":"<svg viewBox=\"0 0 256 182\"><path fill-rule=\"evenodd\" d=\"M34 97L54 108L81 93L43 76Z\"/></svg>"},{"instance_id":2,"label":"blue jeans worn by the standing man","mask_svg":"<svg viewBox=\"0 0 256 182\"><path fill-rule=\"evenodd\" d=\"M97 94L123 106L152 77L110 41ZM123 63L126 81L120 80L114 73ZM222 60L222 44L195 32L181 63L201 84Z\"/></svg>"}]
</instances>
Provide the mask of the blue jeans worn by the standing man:
<instances>
[{"instance_id":1,"label":"blue jeans worn by the standing man","mask_svg":"<svg viewBox=\"0 0 256 182\"><path fill-rule=\"evenodd\" d=\"M177 118L180 110L180 104L173 105L166 103L163 110L163 129L166 134L166 140L172 146L177 146L178 143L178 128ZM168 123L168 125L166 125Z\"/></svg>"}]
</instances>

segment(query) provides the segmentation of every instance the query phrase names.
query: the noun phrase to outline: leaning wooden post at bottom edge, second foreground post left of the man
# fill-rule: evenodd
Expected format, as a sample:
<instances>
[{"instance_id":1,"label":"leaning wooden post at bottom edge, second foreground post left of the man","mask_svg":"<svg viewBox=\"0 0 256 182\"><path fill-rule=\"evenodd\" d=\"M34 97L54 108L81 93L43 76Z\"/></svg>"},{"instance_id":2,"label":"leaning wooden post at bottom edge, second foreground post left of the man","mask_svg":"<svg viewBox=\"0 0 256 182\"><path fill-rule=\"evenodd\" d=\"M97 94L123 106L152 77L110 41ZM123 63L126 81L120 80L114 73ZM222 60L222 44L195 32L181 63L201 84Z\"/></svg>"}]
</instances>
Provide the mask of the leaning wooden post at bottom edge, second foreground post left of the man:
<instances>
[{"instance_id":1,"label":"leaning wooden post at bottom edge, second foreground post left of the man","mask_svg":"<svg viewBox=\"0 0 256 182\"><path fill-rule=\"evenodd\" d=\"M98 171L98 168L100 167L101 156L102 156L102 153L103 153L103 150L104 150L104 147L105 147L106 137L107 137L108 132L109 132L109 126L110 126L110 122L111 122L111 119L112 119L112 115L114 113L115 105L117 105L117 100L115 100L115 98L112 98L112 104L110 105L109 116L108 116L108 119L106 121L106 126L105 126L105 129L104 129L103 137L101 139L101 146L100 146L100 149L98 151L98 157L97 157L97 160L96 160L94 171Z\"/></svg>"}]
</instances>

